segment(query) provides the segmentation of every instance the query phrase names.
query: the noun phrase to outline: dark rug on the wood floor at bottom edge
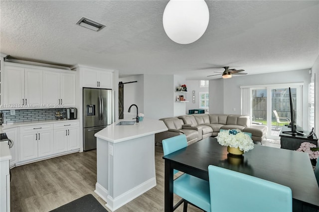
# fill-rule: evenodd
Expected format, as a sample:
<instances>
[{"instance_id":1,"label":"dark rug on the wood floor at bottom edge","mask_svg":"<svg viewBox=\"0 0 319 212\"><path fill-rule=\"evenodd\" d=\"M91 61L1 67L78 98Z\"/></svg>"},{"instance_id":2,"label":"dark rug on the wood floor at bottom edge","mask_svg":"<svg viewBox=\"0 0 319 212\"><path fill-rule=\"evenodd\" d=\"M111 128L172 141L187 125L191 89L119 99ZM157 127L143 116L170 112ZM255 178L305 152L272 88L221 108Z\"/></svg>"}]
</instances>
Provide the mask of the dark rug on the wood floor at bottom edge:
<instances>
[{"instance_id":1,"label":"dark rug on the wood floor at bottom edge","mask_svg":"<svg viewBox=\"0 0 319 212\"><path fill-rule=\"evenodd\" d=\"M107 210L93 195L88 194L51 212L107 212Z\"/></svg>"}]
</instances>

